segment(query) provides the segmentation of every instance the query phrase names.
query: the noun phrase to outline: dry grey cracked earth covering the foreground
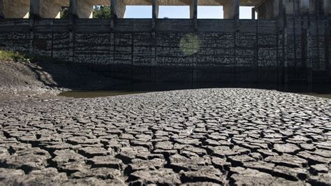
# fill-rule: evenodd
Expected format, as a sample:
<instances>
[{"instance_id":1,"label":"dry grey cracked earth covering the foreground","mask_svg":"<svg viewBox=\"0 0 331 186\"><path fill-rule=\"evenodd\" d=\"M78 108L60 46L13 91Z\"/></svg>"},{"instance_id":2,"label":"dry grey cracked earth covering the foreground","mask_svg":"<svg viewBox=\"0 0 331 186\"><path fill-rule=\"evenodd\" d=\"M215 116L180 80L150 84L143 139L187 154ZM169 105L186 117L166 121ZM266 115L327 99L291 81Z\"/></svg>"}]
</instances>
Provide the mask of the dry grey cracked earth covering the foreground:
<instances>
[{"instance_id":1,"label":"dry grey cracked earth covering the foreground","mask_svg":"<svg viewBox=\"0 0 331 186\"><path fill-rule=\"evenodd\" d=\"M184 90L0 102L0 185L331 185L331 100Z\"/></svg>"}]
</instances>

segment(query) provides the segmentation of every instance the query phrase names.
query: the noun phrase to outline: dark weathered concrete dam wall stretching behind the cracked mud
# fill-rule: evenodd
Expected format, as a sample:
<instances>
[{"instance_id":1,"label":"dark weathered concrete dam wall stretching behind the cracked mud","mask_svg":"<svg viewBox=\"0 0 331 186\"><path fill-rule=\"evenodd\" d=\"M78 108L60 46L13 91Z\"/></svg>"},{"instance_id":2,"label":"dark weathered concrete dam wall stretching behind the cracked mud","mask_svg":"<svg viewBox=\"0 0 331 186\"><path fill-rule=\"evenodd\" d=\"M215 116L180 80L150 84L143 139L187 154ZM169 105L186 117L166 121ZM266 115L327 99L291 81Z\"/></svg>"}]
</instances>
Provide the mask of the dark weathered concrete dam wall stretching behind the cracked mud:
<instances>
[{"instance_id":1,"label":"dark weathered concrete dam wall stretching behind the cracked mud","mask_svg":"<svg viewBox=\"0 0 331 186\"><path fill-rule=\"evenodd\" d=\"M116 78L325 82L330 18L3 19L0 48L89 65Z\"/></svg>"}]
</instances>

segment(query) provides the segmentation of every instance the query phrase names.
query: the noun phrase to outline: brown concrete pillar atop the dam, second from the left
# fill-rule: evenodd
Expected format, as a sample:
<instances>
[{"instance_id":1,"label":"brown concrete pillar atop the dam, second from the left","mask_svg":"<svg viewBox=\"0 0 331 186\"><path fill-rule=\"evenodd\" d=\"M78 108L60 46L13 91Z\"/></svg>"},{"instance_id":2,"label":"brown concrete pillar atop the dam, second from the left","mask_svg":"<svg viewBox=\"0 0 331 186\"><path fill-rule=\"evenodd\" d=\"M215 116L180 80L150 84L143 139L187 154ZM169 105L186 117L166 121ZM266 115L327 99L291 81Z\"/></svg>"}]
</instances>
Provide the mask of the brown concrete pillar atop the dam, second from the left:
<instances>
[{"instance_id":1,"label":"brown concrete pillar atop the dam, second from the left","mask_svg":"<svg viewBox=\"0 0 331 186\"><path fill-rule=\"evenodd\" d=\"M60 18L62 6L69 6L69 0L31 0L31 17Z\"/></svg>"}]
</instances>

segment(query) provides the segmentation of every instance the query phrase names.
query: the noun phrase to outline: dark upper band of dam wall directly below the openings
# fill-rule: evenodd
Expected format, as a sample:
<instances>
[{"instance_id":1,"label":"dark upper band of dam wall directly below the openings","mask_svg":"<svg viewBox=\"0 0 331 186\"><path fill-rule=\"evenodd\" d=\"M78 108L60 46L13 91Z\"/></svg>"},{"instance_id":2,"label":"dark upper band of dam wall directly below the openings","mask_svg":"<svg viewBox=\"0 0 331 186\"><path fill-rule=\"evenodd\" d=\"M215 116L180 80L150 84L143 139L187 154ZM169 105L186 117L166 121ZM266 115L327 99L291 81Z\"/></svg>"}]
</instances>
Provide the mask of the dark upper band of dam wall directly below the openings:
<instances>
[{"instance_id":1,"label":"dark upper band of dam wall directly below the openings","mask_svg":"<svg viewBox=\"0 0 331 186\"><path fill-rule=\"evenodd\" d=\"M198 20L197 25L193 20L182 19L158 19L152 29L151 19L117 19L111 27L107 19L77 19L70 20L41 19L6 19L0 20L0 32L29 31L33 23L34 31L68 32L75 29L76 32L109 33L109 32L136 32L136 31L163 31L163 32L194 32L215 31L235 32L244 30L246 32L275 33L277 31L277 20ZM197 27L195 27L195 25Z\"/></svg>"}]
</instances>

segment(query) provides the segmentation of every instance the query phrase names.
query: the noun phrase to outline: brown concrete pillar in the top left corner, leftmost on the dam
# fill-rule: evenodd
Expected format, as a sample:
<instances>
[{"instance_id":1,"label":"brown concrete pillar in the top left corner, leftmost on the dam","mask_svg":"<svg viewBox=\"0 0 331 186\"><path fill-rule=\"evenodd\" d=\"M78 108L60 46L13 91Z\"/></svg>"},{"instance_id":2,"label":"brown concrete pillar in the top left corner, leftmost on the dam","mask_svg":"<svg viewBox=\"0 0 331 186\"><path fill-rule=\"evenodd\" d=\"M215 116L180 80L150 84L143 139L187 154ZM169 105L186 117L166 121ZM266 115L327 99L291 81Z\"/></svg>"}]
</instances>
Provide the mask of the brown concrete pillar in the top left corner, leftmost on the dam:
<instances>
[{"instance_id":1,"label":"brown concrete pillar in the top left corner, leftmost on the dam","mask_svg":"<svg viewBox=\"0 0 331 186\"><path fill-rule=\"evenodd\" d=\"M29 18L30 0L0 0L0 17Z\"/></svg>"}]
</instances>

